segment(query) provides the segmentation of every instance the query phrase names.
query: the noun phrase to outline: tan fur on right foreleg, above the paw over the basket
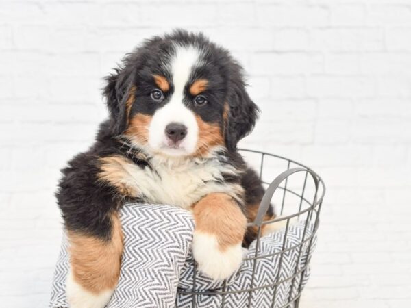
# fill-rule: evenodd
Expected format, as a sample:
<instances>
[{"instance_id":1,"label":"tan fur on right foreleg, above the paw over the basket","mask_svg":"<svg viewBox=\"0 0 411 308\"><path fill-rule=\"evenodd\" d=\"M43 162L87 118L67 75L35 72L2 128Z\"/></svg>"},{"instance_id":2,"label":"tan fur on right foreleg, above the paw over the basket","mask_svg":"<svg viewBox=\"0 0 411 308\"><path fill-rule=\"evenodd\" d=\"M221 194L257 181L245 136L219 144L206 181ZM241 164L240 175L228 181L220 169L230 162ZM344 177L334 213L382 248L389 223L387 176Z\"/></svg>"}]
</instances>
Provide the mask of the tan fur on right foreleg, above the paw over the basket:
<instances>
[{"instance_id":1,"label":"tan fur on right foreleg, above the paw over the basket","mask_svg":"<svg viewBox=\"0 0 411 308\"><path fill-rule=\"evenodd\" d=\"M232 197L215 192L193 207L196 231L216 236L221 251L242 242L247 219Z\"/></svg>"}]
</instances>

